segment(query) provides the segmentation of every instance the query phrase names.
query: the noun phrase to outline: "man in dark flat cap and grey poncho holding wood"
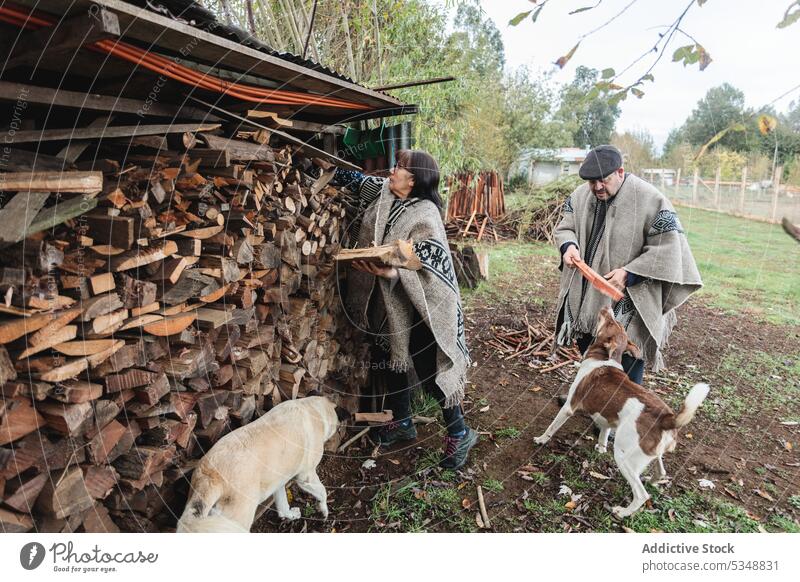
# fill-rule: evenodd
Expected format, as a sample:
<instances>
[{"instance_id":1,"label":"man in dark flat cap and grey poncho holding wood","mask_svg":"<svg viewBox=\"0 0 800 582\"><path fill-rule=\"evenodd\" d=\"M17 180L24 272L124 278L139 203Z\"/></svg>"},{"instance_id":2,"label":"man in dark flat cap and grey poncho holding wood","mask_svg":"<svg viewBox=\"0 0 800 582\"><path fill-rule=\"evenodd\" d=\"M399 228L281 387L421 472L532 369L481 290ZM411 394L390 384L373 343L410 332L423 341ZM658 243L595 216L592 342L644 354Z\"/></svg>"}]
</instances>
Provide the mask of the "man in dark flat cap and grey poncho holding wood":
<instances>
[{"instance_id":1,"label":"man in dark flat cap and grey poncho holding wood","mask_svg":"<svg viewBox=\"0 0 800 582\"><path fill-rule=\"evenodd\" d=\"M577 340L586 351L598 312L610 305L641 352L641 359L622 358L628 377L641 384L645 362L654 372L664 365L661 350L675 309L703 283L672 204L652 184L625 172L617 148L593 149L579 174L587 183L564 203L555 230L562 259L557 341ZM603 274L623 299L615 303L588 284L575 269L576 258Z\"/></svg>"}]
</instances>

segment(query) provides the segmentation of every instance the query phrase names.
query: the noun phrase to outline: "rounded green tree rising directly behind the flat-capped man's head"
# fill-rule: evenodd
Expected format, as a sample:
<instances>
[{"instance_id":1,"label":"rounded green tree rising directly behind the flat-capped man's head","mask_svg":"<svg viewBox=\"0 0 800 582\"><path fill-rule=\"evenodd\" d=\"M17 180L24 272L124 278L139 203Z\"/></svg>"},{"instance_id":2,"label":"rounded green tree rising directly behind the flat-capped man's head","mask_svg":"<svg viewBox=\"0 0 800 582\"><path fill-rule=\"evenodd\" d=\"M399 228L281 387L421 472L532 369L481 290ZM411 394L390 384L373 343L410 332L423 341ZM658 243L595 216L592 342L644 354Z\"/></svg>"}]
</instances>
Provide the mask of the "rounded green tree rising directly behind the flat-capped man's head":
<instances>
[{"instance_id":1,"label":"rounded green tree rising directly behind the flat-capped man's head","mask_svg":"<svg viewBox=\"0 0 800 582\"><path fill-rule=\"evenodd\" d=\"M561 92L558 118L568 125L576 147L609 143L620 114L619 106L589 96L599 76L596 69L580 66L575 79Z\"/></svg>"}]
</instances>

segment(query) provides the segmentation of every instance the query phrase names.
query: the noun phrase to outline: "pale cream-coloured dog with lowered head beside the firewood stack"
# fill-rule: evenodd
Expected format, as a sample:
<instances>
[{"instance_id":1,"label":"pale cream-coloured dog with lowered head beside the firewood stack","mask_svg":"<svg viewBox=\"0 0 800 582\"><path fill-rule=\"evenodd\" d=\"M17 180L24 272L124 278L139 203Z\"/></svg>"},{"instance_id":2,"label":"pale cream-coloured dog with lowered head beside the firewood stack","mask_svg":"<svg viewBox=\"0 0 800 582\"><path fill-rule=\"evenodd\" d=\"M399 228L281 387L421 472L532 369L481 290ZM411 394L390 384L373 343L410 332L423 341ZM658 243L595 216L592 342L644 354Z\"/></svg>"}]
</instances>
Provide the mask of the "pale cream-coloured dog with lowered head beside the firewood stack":
<instances>
[{"instance_id":1,"label":"pale cream-coloured dog with lowered head beside the firewood stack","mask_svg":"<svg viewBox=\"0 0 800 582\"><path fill-rule=\"evenodd\" d=\"M288 400L222 437L200 460L178 521L178 533L249 532L256 509L271 495L282 519L300 517L289 507L292 479L328 517L327 492L317 476L325 441L346 413L322 396Z\"/></svg>"}]
</instances>

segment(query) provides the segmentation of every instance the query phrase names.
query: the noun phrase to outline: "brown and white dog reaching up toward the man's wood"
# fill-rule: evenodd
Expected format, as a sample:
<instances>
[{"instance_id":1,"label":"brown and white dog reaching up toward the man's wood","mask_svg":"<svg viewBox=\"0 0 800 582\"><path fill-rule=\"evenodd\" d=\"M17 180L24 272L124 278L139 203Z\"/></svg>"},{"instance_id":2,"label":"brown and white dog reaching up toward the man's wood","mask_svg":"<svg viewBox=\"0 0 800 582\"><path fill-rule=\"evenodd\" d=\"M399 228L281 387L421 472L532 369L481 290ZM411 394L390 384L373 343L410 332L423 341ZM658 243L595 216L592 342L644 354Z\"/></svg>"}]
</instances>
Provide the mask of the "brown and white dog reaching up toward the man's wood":
<instances>
[{"instance_id":1,"label":"brown and white dog reaching up toward the man's wood","mask_svg":"<svg viewBox=\"0 0 800 582\"><path fill-rule=\"evenodd\" d=\"M640 475L653 460L658 459L655 481L666 477L662 456L675 450L678 429L692 420L709 387L695 384L675 414L663 400L632 382L623 371L622 354L627 351L639 357L639 349L628 340L608 307L598 315L595 337L570 386L567 401L544 434L534 441L545 444L579 411L589 414L600 428L595 446L598 451L606 452L609 433L614 429L614 459L633 490L628 507L613 508L614 514L622 518L635 513L650 498Z\"/></svg>"}]
</instances>

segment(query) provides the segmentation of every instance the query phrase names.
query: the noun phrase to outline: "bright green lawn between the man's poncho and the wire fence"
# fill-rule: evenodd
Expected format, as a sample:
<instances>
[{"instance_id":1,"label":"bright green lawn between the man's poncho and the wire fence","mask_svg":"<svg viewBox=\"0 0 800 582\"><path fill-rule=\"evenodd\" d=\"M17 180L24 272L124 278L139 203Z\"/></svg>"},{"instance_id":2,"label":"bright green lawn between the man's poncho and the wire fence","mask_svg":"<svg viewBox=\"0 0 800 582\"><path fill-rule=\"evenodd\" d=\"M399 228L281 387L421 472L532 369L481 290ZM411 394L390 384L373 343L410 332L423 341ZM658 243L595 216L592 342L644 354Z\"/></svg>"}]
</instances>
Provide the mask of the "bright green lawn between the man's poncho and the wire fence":
<instances>
[{"instance_id":1,"label":"bright green lawn between the man's poncho and the wire fence","mask_svg":"<svg viewBox=\"0 0 800 582\"><path fill-rule=\"evenodd\" d=\"M800 246L779 225L678 208L705 286L698 292L730 313L800 324Z\"/></svg>"}]
</instances>

